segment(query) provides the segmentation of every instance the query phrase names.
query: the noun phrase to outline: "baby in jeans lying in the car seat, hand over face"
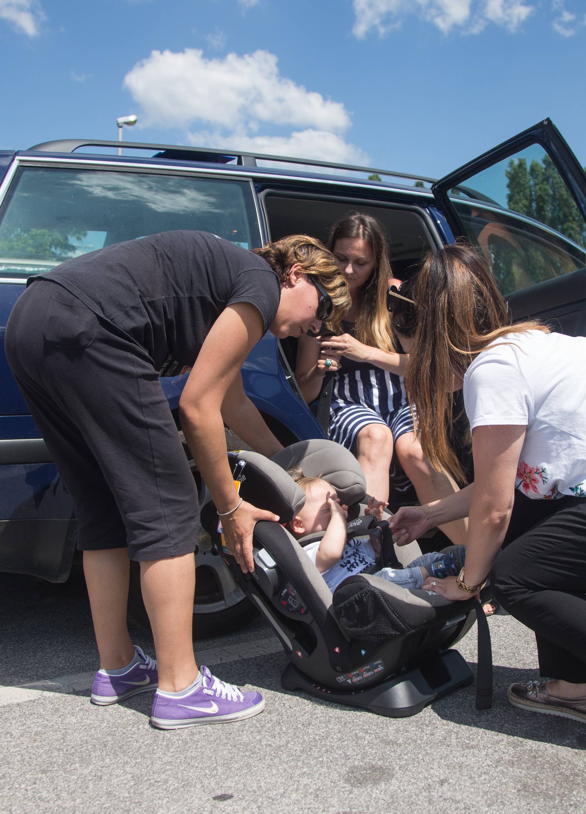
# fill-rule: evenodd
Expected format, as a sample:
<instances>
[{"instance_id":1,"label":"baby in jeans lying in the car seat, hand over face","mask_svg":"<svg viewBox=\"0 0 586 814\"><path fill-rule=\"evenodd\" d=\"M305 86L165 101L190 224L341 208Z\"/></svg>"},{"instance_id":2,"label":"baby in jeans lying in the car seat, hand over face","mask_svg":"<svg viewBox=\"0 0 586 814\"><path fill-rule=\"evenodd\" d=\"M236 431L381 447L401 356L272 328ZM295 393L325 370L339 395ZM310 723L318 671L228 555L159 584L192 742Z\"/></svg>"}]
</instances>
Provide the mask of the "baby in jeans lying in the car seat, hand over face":
<instances>
[{"instance_id":1,"label":"baby in jeans lying in the car seat, hand over face","mask_svg":"<svg viewBox=\"0 0 586 814\"><path fill-rule=\"evenodd\" d=\"M309 534L326 532L321 540L304 546L304 552L334 593L347 576L360 574L374 566L379 552L375 550L370 536L346 539L348 506L341 505L331 484L323 478L306 478L299 469L289 470L289 475L305 492L305 503L287 527L297 540ZM365 514L382 520L386 505L371 497ZM374 571L374 576L389 580L402 588L419 589L429 575L438 579L457 575L464 566L465 556L466 547L458 545L448 554L439 554L437 551L423 554L405 568L382 568Z\"/></svg>"}]
</instances>

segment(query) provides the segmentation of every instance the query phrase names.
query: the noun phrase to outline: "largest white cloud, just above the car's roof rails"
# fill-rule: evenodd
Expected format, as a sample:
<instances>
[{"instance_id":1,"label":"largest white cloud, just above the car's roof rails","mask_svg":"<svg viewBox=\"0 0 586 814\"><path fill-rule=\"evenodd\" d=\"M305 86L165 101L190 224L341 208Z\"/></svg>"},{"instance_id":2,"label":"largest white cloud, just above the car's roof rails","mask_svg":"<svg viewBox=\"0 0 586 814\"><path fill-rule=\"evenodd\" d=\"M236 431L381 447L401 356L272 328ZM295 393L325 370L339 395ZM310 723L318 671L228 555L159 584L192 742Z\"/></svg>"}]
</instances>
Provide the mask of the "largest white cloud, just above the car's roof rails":
<instances>
[{"instance_id":1,"label":"largest white cloud, just above the car's roof rails","mask_svg":"<svg viewBox=\"0 0 586 814\"><path fill-rule=\"evenodd\" d=\"M153 51L125 77L143 127L179 127L199 147L230 147L341 163L368 157L346 142L342 103L283 77L265 50L206 59L203 51ZM286 132L265 135L261 130Z\"/></svg>"}]
</instances>

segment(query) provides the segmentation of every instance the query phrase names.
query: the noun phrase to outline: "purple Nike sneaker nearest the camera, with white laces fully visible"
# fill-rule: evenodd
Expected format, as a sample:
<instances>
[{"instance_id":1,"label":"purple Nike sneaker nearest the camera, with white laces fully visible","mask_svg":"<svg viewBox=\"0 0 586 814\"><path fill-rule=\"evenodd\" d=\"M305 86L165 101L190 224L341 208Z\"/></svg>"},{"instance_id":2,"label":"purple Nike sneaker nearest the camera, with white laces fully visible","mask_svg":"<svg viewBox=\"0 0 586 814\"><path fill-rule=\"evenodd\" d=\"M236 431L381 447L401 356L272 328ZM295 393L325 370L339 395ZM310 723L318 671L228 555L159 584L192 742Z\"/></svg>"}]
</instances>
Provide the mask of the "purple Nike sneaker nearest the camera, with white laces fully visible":
<instances>
[{"instance_id":1,"label":"purple Nike sneaker nearest the camera, with white laces fully visible","mask_svg":"<svg viewBox=\"0 0 586 814\"><path fill-rule=\"evenodd\" d=\"M151 711L157 729L181 729L195 724L226 724L258 715L265 709L260 693L241 693L238 687L212 676L203 664L202 683L188 695L168 695L158 689Z\"/></svg>"}]
</instances>

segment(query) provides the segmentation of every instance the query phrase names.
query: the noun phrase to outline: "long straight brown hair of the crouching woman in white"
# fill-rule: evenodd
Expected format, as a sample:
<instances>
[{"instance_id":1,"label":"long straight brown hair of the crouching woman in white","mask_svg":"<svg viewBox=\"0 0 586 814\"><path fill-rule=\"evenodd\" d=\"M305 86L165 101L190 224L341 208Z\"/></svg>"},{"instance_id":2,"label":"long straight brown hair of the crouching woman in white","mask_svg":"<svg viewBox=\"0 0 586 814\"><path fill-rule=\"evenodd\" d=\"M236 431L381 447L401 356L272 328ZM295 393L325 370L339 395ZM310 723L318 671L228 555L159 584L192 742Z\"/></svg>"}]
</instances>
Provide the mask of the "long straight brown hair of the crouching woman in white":
<instances>
[{"instance_id":1,"label":"long straight brown hair of the crouching woman in white","mask_svg":"<svg viewBox=\"0 0 586 814\"><path fill-rule=\"evenodd\" d=\"M461 463L448 444L454 379L495 339L549 328L536 320L509 324L505 300L483 257L466 243L431 252L412 289L417 327L405 371L423 452L436 470L464 483Z\"/></svg>"}]
</instances>

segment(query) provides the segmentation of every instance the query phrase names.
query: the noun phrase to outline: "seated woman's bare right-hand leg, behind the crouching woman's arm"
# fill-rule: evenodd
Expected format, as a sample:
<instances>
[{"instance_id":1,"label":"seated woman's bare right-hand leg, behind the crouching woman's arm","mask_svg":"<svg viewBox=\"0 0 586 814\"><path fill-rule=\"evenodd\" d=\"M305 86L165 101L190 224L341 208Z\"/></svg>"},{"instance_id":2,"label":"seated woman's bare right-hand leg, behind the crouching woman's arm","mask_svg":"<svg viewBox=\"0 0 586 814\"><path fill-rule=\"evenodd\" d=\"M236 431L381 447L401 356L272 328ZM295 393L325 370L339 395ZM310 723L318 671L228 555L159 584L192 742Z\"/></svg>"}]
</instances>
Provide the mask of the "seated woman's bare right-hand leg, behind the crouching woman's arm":
<instances>
[{"instance_id":1,"label":"seated woman's bare right-hand leg, behind the crouching woman's arm","mask_svg":"<svg viewBox=\"0 0 586 814\"><path fill-rule=\"evenodd\" d=\"M396 440L396 453L421 503L437 501L458 491L457 484L445 472L437 472L423 454L421 444L413 432L405 432ZM468 519L453 520L439 528L452 540L453 545L466 545Z\"/></svg>"}]
</instances>

